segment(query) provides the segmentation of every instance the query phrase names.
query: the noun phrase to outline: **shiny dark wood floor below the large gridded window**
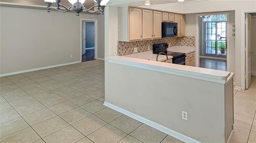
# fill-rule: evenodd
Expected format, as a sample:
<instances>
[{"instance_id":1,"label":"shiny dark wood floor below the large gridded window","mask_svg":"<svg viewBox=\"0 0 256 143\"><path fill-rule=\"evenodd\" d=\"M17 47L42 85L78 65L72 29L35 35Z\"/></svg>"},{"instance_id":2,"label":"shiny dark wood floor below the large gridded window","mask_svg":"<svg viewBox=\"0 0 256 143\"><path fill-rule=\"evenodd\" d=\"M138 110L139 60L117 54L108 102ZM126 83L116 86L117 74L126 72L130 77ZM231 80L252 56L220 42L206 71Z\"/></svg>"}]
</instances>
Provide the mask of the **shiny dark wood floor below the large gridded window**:
<instances>
[{"instance_id":1,"label":"shiny dark wood floor below the large gridded window","mask_svg":"<svg viewBox=\"0 0 256 143\"><path fill-rule=\"evenodd\" d=\"M227 71L227 60L200 58L200 67Z\"/></svg>"}]
</instances>

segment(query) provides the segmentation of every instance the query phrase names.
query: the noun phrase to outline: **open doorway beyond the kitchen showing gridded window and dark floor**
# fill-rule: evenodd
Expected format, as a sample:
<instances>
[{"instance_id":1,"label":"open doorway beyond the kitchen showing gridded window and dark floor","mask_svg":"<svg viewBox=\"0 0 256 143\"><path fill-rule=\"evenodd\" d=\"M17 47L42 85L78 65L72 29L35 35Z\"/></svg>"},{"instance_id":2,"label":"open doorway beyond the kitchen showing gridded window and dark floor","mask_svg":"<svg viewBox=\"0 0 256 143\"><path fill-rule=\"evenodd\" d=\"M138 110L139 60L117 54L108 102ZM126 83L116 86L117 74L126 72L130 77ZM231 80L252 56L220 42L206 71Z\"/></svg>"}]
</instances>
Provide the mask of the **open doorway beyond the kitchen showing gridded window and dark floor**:
<instances>
[{"instance_id":1,"label":"open doorway beyond the kitchen showing gridded window and dark floor","mask_svg":"<svg viewBox=\"0 0 256 143\"><path fill-rule=\"evenodd\" d=\"M227 71L228 14L202 15L199 26L199 67Z\"/></svg>"}]
</instances>

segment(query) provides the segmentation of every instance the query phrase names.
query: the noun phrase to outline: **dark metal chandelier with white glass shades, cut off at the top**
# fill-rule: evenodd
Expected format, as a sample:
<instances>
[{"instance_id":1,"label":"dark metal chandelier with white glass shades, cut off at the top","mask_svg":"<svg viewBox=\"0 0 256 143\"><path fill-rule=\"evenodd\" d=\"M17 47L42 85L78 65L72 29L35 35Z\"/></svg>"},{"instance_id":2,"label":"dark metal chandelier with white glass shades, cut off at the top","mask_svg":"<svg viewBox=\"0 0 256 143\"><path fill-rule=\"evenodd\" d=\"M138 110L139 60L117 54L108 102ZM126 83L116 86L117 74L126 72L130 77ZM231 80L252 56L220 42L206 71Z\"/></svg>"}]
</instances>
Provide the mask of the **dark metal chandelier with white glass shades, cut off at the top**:
<instances>
[{"instance_id":1,"label":"dark metal chandelier with white glass shades, cut off at the top","mask_svg":"<svg viewBox=\"0 0 256 143\"><path fill-rule=\"evenodd\" d=\"M68 0L72 7L67 8L64 5L61 5L61 0L45 0L45 4L47 5L47 12L50 12L50 9L55 9L60 12L68 12L74 10L76 12L76 15L79 16L79 13L82 11L87 11L88 13L95 13L95 12L101 12L101 14L104 14L104 8L106 7L106 4L109 2L109 0L94 0L94 2L97 3L97 5L92 6L91 8L87 9L83 6L83 3L85 0ZM56 2L57 8L50 7L53 3ZM66 10L60 10L60 7L65 8ZM98 10L91 12L90 10L94 7L97 7Z\"/></svg>"}]
</instances>

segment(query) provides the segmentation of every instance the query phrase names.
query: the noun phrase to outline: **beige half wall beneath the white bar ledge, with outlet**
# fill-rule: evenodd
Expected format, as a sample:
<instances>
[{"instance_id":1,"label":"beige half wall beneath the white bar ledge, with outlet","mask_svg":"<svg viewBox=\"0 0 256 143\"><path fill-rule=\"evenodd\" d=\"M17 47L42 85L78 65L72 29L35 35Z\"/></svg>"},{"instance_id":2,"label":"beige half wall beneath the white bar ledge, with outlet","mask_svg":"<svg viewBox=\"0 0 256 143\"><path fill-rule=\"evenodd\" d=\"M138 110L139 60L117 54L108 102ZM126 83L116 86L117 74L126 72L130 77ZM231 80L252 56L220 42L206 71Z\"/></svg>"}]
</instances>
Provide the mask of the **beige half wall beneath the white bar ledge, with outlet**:
<instances>
[{"instance_id":1,"label":"beige half wall beneath the white bar ledge, with outlet","mask_svg":"<svg viewBox=\"0 0 256 143\"><path fill-rule=\"evenodd\" d=\"M224 143L232 131L232 80L225 85L108 60L105 74L105 101L110 104L200 142ZM188 121L182 119L182 110L188 112Z\"/></svg>"}]
</instances>

